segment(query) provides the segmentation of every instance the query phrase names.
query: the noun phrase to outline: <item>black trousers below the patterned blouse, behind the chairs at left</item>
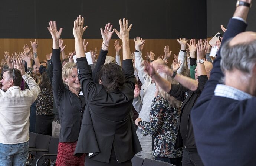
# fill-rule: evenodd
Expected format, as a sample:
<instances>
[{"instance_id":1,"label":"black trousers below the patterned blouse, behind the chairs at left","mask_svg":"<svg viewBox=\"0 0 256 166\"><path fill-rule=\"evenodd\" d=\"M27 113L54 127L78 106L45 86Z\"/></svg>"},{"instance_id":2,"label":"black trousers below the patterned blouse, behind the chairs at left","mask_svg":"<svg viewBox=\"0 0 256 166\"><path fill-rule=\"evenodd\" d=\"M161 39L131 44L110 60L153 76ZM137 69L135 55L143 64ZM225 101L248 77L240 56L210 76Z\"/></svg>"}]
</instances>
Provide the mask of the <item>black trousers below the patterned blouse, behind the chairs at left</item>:
<instances>
[{"instance_id":1,"label":"black trousers below the patterned blouse, behind the chairs at left","mask_svg":"<svg viewBox=\"0 0 256 166\"><path fill-rule=\"evenodd\" d=\"M36 115L36 133L52 135L52 121L54 115Z\"/></svg>"}]
</instances>

